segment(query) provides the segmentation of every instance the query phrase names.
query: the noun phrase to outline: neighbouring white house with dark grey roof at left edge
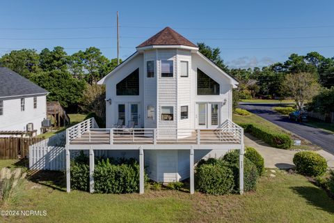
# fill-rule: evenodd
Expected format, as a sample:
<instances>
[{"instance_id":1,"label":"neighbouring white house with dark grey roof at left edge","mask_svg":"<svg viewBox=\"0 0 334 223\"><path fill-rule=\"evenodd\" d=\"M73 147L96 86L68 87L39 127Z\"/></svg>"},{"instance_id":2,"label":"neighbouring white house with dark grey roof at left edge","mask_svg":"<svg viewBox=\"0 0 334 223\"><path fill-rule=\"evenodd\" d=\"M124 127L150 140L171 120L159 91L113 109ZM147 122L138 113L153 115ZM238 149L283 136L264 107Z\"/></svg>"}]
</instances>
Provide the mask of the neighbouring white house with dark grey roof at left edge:
<instances>
[{"instance_id":1,"label":"neighbouring white house with dark grey roof at left edge","mask_svg":"<svg viewBox=\"0 0 334 223\"><path fill-rule=\"evenodd\" d=\"M29 130L40 134L42 121L47 118L47 93L17 72L0 68L0 134Z\"/></svg>"}]
</instances>

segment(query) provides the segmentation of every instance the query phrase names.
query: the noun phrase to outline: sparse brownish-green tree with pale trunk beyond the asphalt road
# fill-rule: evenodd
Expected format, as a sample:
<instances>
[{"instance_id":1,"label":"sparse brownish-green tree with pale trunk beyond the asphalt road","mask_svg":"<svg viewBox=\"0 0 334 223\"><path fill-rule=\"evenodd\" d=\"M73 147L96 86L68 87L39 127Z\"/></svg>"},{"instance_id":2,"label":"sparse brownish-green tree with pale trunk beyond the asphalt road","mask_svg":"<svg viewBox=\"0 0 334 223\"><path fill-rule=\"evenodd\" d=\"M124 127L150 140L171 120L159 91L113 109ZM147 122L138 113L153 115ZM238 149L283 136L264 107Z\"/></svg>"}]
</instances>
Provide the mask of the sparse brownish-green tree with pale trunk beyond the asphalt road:
<instances>
[{"instance_id":1,"label":"sparse brownish-green tree with pale trunk beyond the asphalt road","mask_svg":"<svg viewBox=\"0 0 334 223\"><path fill-rule=\"evenodd\" d=\"M312 100L319 91L319 84L315 76L309 72L288 74L284 85L294 98L299 110L303 109L305 101Z\"/></svg>"}]
</instances>

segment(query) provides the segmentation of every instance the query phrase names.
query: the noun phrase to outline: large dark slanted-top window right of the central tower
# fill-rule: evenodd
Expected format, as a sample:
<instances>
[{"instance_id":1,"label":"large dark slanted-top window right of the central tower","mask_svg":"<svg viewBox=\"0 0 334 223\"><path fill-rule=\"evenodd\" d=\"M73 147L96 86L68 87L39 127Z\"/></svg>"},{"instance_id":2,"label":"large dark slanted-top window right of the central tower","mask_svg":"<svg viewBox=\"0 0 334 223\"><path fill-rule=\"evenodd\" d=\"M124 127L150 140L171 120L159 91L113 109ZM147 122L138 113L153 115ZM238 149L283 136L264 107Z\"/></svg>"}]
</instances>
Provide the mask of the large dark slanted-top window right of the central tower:
<instances>
[{"instance_id":1,"label":"large dark slanted-top window right of the central tower","mask_svg":"<svg viewBox=\"0 0 334 223\"><path fill-rule=\"evenodd\" d=\"M219 95L219 84L200 69L197 69L197 94Z\"/></svg>"}]
</instances>

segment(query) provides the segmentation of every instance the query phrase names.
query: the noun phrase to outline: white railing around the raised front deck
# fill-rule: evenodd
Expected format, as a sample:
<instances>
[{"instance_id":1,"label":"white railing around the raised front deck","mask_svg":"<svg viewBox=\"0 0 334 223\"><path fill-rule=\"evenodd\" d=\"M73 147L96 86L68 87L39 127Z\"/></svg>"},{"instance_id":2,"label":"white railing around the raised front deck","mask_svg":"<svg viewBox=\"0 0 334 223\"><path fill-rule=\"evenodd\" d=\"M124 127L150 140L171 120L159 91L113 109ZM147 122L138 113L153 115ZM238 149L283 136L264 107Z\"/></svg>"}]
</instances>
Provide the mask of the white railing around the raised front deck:
<instances>
[{"instance_id":1,"label":"white railing around the raised front deck","mask_svg":"<svg viewBox=\"0 0 334 223\"><path fill-rule=\"evenodd\" d=\"M241 144L244 130L229 119L215 129L96 128L94 118L66 130L67 144Z\"/></svg>"}]
</instances>

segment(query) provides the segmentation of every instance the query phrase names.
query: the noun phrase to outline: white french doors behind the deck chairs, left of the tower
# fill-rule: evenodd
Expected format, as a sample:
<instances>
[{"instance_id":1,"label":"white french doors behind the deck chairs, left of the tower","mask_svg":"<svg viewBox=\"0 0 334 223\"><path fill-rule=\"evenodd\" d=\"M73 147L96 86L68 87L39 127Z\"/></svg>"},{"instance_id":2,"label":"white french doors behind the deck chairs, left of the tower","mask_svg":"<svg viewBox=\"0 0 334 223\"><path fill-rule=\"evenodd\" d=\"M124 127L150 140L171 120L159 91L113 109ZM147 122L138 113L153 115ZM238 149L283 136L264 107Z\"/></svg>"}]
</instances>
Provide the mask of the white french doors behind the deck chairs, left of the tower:
<instances>
[{"instance_id":1,"label":"white french doors behind the deck chairs, left of the tower","mask_svg":"<svg viewBox=\"0 0 334 223\"><path fill-rule=\"evenodd\" d=\"M130 121L134 121L134 128L141 128L140 105L140 103L136 102L118 104L118 120L121 119L123 121L123 125L125 125L125 128L129 127Z\"/></svg>"}]
</instances>

